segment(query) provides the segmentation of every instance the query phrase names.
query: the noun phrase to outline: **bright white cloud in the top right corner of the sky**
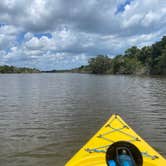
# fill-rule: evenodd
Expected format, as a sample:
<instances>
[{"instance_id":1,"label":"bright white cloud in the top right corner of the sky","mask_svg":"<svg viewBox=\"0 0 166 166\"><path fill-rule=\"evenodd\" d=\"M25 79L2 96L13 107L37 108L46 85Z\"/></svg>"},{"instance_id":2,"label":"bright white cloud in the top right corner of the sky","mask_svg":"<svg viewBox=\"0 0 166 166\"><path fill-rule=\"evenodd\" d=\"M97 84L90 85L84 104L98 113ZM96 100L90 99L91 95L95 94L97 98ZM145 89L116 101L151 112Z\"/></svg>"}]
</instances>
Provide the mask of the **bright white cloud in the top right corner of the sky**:
<instances>
[{"instance_id":1,"label":"bright white cloud in the top right corner of the sky","mask_svg":"<svg viewBox=\"0 0 166 166\"><path fill-rule=\"evenodd\" d=\"M140 31L144 30L144 27L147 27L149 31L152 31L155 28L159 29L158 24L162 25L165 17L166 1L135 0L125 7L125 11L122 14L122 25L125 28L138 26L138 31L139 29ZM152 25L154 28L151 27Z\"/></svg>"}]
</instances>

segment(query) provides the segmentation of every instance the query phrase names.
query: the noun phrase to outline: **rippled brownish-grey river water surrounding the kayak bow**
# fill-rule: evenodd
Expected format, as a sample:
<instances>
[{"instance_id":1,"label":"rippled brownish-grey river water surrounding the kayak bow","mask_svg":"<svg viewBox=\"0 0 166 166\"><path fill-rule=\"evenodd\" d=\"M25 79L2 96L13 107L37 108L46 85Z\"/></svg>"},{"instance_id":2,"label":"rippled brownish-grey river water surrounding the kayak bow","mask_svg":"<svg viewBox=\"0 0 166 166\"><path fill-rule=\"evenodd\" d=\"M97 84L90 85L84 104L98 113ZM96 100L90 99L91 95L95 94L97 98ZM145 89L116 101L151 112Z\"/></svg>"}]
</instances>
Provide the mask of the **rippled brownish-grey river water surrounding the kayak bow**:
<instances>
[{"instance_id":1,"label":"rippled brownish-grey river water surrounding the kayak bow","mask_svg":"<svg viewBox=\"0 0 166 166\"><path fill-rule=\"evenodd\" d=\"M166 155L166 78L0 75L0 165L63 166L113 113Z\"/></svg>"}]
</instances>

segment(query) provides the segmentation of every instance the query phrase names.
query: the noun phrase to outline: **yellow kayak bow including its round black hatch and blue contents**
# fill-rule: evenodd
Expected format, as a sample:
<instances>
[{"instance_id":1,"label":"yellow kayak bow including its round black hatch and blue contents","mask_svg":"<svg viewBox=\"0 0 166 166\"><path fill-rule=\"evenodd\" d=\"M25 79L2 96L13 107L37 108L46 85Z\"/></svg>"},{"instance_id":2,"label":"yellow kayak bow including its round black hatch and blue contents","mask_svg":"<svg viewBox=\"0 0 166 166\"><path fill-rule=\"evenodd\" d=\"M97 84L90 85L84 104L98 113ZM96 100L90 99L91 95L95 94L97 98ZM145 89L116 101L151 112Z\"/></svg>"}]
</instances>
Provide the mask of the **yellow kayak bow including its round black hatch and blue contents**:
<instances>
[{"instance_id":1,"label":"yellow kayak bow including its round black hatch and blue contents","mask_svg":"<svg viewBox=\"0 0 166 166\"><path fill-rule=\"evenodd\" d=\"M125 159L129 166L132 166L132 162L134 166L166 166L164 157L116 114L111 116L106 124L66 163L66 166L107 166L110 163L118 165L116 162L122 161L122 157L125 156L119 157L121 151L129 156L129 159Z\"/></svg>"}]
</instances>

